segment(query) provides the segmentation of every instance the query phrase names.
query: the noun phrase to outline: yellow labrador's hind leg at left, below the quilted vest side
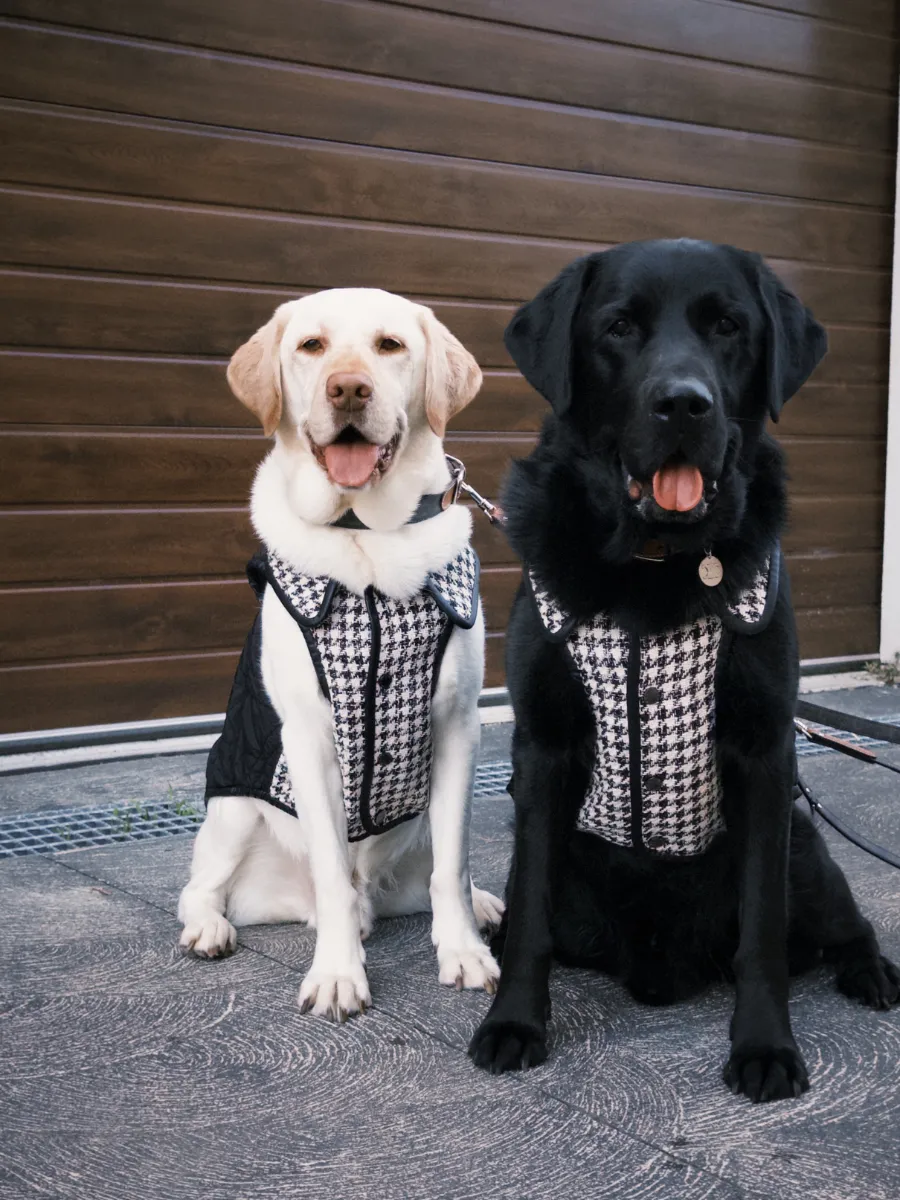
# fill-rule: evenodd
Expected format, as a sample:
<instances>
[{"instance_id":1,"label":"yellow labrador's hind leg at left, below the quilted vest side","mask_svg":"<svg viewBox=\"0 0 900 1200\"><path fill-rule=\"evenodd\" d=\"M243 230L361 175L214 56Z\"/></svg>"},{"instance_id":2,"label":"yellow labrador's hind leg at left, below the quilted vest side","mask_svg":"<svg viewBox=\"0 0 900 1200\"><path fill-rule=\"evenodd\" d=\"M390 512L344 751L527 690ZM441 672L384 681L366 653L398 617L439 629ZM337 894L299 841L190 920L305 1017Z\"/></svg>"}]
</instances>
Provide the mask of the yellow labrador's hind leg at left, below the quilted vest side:
<instances>
[{"instance_id":1,"label":"yellow labrador's hind leg at left, below the quilted vest side","mask_svg":"<svg viewBox=\"0 0 900 1200\"><path fill-rule=\"evenodd\" d=\"M204 959L230 954L238 935L226 917L228 892L259 824L256 802L244 796L210 800L193 844L191 878L178 902L185 926L180 944Z\"/></svg>"}]
</instances>

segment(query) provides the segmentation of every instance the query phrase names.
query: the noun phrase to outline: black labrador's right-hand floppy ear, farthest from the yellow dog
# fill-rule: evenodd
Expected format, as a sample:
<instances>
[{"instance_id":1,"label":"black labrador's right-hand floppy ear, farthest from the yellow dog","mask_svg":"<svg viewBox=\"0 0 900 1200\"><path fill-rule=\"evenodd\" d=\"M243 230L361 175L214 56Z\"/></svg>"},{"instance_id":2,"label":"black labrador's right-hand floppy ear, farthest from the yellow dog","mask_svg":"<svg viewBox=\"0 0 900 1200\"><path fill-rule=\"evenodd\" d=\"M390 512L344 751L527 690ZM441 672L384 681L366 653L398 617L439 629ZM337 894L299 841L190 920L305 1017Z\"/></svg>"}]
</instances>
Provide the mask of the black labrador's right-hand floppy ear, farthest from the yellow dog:
<instances>
[{"instance_id":1,"label":"black labrador's right-hand floppy ear, farthest from the yellow dog","mask_svg":"<svg viewBox=\"0 0 900 1200\"><path fill-rule=\"evenodd\" d=\"M769 415L809 379L828 349L828 335L806 306L760 259L758 287L766 314L766 376Z\"/></svg>"}]
</instances>

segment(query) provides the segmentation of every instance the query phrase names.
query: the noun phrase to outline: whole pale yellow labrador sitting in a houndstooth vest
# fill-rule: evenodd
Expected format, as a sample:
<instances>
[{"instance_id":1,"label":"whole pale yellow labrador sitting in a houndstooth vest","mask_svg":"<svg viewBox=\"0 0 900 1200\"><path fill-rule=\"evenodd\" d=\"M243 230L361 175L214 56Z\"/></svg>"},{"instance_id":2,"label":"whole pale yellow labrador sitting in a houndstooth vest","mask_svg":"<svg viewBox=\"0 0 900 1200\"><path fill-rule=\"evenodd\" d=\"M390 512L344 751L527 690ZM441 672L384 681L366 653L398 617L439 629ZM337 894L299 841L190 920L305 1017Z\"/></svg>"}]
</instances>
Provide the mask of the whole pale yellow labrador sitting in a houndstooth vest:
<instances>
[{"instance_id":1,"label":"whole pale yellow labrador sitting in a houndstooth vest","mask_svg":"<svg viewBox=\"0 0 900 1200\"><path fill-rule=\"evenodd\" d=\"M260 596L210 755L181 944L234 926L317 930L300 989L343 1019L371 1003L376 917L433 913L442 983L493 991L468 870L484 620L470 515L440 498L442 438L481 372L431 310L388 292L282 305L228 382L275 444L253 485Z\"/></svg>"}]
</instances>

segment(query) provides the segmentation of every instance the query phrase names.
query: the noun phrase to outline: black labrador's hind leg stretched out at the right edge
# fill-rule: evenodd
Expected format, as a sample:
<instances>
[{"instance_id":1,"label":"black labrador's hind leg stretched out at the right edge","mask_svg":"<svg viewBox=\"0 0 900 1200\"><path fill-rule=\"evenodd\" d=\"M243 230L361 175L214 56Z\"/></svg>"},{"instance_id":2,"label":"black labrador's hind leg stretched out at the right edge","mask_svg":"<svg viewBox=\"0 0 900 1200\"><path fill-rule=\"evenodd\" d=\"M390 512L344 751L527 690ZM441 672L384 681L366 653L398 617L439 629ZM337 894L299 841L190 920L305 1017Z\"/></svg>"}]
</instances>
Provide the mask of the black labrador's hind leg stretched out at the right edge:
<instances>
[{"instance_id":1,"label":"black labrador's hind leg stretched out at the right edge","mask_svg":"<svg viewBox=\"0 0 900 1200\"><path fill-rule=\"evenodd\" d=\"M844 872L809 816L794 809L791 830L791 942L821 950L835 967L838 990L869 1008L900 1000L900 972L878 949Z\"/></svg>"}]
</instances>

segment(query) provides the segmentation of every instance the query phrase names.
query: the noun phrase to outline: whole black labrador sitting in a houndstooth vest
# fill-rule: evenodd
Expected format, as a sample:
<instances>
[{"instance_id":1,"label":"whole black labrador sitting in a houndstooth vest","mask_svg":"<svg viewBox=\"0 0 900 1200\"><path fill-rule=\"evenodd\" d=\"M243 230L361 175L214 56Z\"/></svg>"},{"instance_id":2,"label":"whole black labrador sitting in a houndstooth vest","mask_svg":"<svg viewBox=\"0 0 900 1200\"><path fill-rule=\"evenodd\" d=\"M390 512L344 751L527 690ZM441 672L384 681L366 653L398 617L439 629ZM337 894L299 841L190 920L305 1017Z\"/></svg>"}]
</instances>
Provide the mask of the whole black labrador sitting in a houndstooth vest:
<instances>
[{"instance_id":1,"label":"whole black labrador sitting in a houndstooth vest","mask_svg":"<svg viewBox=\"0 0 900 1200\"><path fill-rule=\"evenodd\" d=\"M572 263L506 346L552 414L503 497L526 568L506 652L515 848L469 1054L494 1073L546 1058L553 958L650 1004L726 978L726 1084L799 1096L788 974L824 958L847 996L900 994L793 804L786 476L764 425L824 330L757 254L648 241Z\"/></svg>"}]
</instances>

